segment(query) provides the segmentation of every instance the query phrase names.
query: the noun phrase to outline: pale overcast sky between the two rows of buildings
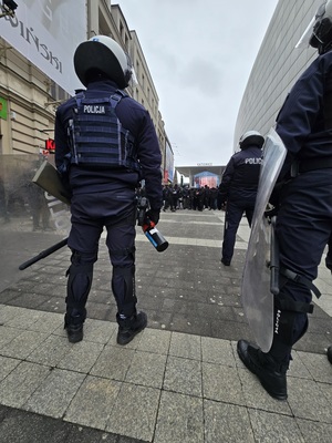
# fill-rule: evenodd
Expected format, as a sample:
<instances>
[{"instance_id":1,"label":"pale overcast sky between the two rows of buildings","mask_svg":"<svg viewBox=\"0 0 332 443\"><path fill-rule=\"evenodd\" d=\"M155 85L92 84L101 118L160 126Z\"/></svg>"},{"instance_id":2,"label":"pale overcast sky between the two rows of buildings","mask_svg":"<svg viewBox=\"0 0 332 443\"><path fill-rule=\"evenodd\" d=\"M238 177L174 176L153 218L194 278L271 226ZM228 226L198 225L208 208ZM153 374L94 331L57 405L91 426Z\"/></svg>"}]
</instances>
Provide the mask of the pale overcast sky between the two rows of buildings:
<instances>
[{"instance_id":1,"label":"pale overcast sky between the two rows of buildings","mask_svg":"<svg viewBox=\"0 0 332 443\"><path fill-rule=\"evenodd\" d=\"M159 97L175 166L225 165L278 0L118 0Z\"/></svg>"}]
</instances>

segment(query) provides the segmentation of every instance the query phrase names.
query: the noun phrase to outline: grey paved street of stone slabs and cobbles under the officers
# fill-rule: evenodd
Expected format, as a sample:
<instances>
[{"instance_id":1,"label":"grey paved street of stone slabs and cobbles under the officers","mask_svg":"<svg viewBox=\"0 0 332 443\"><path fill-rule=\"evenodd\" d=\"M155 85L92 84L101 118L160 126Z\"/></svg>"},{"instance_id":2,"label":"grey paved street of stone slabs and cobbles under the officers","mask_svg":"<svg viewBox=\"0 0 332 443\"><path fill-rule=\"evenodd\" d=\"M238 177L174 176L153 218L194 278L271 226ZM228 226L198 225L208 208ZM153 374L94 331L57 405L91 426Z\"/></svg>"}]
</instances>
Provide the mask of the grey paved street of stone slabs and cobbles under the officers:
<instances>
[{"instance_id":1,"label":"grey paved street of stone slabs and cobbles under the officers","mask_svg":"<svg viewBox=\"0 0 332 443\"><path fill-rule=\"evenodd\" d=\"M115 340L104 239L84 340L72 344L63 330L68 248L19 271L60 237L1 229L1 442L331 442L332 278L323 264L323 296L295 346L289 399L279 402L236 352L238 339L252 339L240 300L246 218L230 267L220 262L222 212L163 213L164 253L138 229L138 308L148 327L126 347Z\"/></svg>"}]
</instances>

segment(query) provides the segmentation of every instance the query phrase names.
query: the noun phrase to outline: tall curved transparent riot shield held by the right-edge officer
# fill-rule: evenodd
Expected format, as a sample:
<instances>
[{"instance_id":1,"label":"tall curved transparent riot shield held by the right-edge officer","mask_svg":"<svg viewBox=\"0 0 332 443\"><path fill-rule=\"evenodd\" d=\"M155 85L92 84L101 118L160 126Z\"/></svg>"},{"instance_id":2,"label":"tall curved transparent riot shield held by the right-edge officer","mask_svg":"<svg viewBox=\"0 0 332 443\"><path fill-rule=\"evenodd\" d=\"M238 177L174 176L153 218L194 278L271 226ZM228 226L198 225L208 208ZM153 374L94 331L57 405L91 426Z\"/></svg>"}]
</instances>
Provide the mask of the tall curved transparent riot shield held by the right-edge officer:
<instances>
[{"instance_id":1,"label":"tall curved transparent riot shield held by the right-edge officer","mask_svg":"<svg viewBox=\"0 0 332 443\"><path fill-rule=\"evenodd\" d=\"M263 352L270 350L273 338L273 295L269 266L271 226L264 212L286 154L287 150L281 138L271 128L263 146L263 163L241 285L245 315L256 342Z\"/></svg>"}]
</instances>

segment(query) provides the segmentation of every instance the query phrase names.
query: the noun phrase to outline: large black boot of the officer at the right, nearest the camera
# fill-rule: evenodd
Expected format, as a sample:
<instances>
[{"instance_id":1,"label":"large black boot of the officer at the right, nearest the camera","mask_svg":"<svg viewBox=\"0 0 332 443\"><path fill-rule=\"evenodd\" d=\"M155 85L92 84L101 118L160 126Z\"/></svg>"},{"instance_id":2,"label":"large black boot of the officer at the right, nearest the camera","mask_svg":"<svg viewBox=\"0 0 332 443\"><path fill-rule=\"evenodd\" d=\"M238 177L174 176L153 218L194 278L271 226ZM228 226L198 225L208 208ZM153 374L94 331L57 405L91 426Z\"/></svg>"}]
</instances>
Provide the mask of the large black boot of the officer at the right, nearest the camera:
<instances>
[{"instance_id":1,"label":"large black boot of the officer at the right, nearest the camera","mask_svg":"<svg viewBox=\"0 0 332 443\"><path fill-rule=\"evenodd\" d=\"M276 360L246 340L238 341L238 354L245 365L258 377L264 390L277 400L287 400L287 365Z\"/></svg>"}]
</instances>

